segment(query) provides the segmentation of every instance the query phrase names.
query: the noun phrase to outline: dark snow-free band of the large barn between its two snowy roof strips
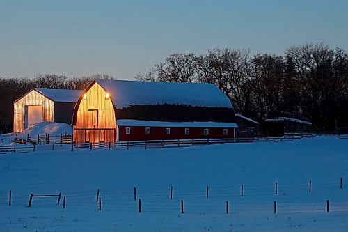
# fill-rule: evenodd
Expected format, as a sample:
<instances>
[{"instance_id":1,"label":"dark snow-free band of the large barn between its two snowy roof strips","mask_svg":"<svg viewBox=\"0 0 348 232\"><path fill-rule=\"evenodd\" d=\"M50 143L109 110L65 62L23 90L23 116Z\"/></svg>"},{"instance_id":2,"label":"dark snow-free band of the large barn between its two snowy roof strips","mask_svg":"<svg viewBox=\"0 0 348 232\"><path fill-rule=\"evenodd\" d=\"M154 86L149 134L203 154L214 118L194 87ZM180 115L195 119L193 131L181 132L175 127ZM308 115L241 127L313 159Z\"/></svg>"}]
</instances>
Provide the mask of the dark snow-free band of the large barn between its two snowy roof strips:
<instances>
[{"instance_id":1,"label":"dark snow-free band of the large barn between its two snowy roof strips","mask_svg":"<svg viewBox=\"0 0 348 232\"><path fill-rule=\"evenodd\" d=\"M135 105L115 109L117 119L166 122L235 123L235 111L227 107L192 107L189 105Z\"/></svg>"}]
</instances>

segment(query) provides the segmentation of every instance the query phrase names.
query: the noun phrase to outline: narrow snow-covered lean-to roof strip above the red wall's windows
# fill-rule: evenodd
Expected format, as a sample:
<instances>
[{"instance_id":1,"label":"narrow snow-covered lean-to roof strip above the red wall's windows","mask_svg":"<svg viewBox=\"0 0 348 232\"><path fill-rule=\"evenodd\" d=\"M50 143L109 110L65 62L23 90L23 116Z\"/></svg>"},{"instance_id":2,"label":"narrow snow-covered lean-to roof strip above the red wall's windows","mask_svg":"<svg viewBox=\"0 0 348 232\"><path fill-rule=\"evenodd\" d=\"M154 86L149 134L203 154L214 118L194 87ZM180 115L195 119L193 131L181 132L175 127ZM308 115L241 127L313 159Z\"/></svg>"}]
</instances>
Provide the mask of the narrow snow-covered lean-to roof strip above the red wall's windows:
<instances>
[{"instance_id":1,"label":"narrow snow-covered lean-to roof strip above the red wall's windows","mask_svg":"<svg viewBox=\"0 0 348 232\"><path fill-rule=\"evenodd\" d=\"M159 122L159 121L141 121L132 119L118 119L116 125L120 126L138 126L138 127L207 127L207 128L237 128L236 123L216 123L216 122Z\"/></svg>"}]
</instances>

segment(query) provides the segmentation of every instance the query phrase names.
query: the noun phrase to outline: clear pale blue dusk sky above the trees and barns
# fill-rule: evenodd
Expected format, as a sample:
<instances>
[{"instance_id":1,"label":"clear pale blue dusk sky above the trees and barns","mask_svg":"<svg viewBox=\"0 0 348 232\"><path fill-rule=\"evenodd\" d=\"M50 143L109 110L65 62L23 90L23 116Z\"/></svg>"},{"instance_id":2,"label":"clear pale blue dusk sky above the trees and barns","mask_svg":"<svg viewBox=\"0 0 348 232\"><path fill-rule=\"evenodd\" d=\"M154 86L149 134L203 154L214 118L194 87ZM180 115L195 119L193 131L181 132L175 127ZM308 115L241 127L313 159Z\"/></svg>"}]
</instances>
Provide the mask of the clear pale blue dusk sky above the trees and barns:
<instances>
[{"instance_id":1,"label":"clear pale blue dusk sky above the trees and barns","mask_svg":"<svg viewBox=\"0 0 348 232\"><path fill-rule=\"evenodd\" d=\"M133 79L175 52L306 42L348 51L348 1L0 0L0 77Z\"/></svg>"}]
</instances>

